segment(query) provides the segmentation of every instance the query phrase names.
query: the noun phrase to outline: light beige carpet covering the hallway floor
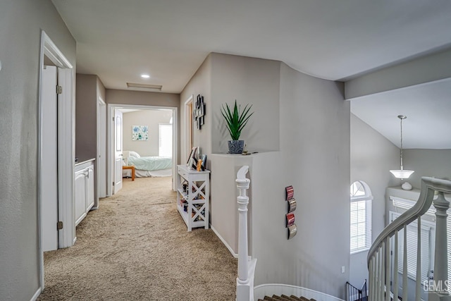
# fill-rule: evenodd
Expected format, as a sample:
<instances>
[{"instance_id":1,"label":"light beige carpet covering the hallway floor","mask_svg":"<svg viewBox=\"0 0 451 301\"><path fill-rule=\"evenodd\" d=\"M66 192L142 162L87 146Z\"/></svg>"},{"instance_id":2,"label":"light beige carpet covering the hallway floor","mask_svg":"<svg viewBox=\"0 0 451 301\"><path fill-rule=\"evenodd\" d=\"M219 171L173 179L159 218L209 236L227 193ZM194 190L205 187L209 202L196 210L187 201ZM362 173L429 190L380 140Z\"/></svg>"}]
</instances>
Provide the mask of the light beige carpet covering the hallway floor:
<instances>
[{"instance_id":1,"label":"light beige carpet covering the hallway floor","mask_svg":"<svg viewBox=\"0 0 451 301\"><path fill-rule=\"evenodd\" d=\"M171 178L125 179L77 237L44 254L38 300L235 300L237 259L210 229L187 232Z\"/></svg>"}]
</instances>

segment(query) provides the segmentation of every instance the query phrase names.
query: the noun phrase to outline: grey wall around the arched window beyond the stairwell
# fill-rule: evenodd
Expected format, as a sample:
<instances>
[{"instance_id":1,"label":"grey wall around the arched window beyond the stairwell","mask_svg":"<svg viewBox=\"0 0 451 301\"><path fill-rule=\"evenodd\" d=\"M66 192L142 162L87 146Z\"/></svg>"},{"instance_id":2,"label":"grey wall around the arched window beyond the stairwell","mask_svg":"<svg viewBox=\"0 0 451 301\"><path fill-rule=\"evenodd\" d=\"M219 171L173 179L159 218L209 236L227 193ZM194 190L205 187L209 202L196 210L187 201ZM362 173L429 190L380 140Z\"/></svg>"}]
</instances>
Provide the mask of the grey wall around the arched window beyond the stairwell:
<instances>
[{"instance_id":1,"label":"grey wall around the arched window beyond the stairwell","mask_svg":"<svg viewBox=\"0 0 451 301\"><path fill-rule=\"evenodd\" d=\"M371 189L372 240L385 227L385 188L400 185L400 180L390 173L393 166L399 166L399 156L400 149L351 114L351 183L363 180ZM366 251L350 257L350 283L354 286L359 287L368 279L367 255Z\"/></svg>"}]
</instances>

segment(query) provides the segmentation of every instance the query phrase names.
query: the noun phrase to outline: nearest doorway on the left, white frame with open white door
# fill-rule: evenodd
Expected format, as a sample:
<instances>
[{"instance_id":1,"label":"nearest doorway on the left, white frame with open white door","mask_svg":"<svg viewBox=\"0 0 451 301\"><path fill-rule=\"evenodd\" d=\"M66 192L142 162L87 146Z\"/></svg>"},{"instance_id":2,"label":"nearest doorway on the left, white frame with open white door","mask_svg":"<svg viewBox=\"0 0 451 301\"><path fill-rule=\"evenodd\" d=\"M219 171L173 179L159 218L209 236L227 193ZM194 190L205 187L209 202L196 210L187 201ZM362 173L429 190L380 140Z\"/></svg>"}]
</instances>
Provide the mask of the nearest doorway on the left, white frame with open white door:
<instances>
[{"instance_id":1,"label":"nearest doorway on the left, white frame with open white door","mask_svg":"<svg viewBox=\"0 0 451 301\"><path fill-rule=\"evenodd\" d=\"M73 66L44 31L39 67L38 237L43 290L44 251L70 247L75 239Z\"/></svg>"}]
</instances>

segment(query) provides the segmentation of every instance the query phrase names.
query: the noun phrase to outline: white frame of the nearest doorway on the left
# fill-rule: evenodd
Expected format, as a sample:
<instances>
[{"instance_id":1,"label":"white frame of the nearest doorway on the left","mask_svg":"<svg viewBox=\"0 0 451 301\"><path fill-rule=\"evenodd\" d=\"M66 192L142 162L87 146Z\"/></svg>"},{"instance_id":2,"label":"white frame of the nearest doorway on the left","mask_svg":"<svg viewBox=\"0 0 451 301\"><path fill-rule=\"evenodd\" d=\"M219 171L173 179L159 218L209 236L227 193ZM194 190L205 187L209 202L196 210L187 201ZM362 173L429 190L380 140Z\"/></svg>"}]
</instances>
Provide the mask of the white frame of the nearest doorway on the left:
<instances>
[{"instance_id":1,"label":"white frame of the nearest doorway on the left","mask_svg":"<svg viewBox=\"0 0 451 301\"><path fill-rule=\"evenodd\" d=\"M58 97L58 221L63 221L63 229L58 231L58 248L70 247L75 242L75 221L73 219L73 158L75 154L75 128L74 112L75 102L73 95L74 74L73 66L66 56L56 47L44 30L41 32L41 47L39 50L39 99L38 99L38 148L37 148L37 185L39 193L38 203L38 238L39 238L39 286L44 290L44 252L42 249L42 69L44 56L47 56L56 67L62 69L62 76L58 75L58 85L63 86L62 94ZM64 202L66 200L66 202ZM56 226L56 225L55 225Z\"/></svg>"}]
</instances>

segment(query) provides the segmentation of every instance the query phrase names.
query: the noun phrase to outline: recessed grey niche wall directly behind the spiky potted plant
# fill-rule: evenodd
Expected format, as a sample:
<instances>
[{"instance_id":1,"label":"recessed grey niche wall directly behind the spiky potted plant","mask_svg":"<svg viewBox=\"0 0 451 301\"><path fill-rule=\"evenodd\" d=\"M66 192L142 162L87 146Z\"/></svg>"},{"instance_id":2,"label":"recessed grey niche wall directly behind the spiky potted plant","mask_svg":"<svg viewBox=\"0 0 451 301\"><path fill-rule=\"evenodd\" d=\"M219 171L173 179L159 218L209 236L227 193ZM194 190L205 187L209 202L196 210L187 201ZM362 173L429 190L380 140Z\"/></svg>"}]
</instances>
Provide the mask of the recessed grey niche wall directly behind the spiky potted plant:
<instances>
[{"instance_id":1,"label":"recessed grey niche wall directly behind the spiky potted plant","mask_svg":"<svg viewBox=\"0 0 451 301\"><path fill-rule=\"evenodd\" d=\"M246 56L211 54L211 149L228 152L230 134L221 114L222 104L252 104L254 113L240 140L249 152L271 152L279 149L279 83L280 62Z\"/></svg>"}]
</instances>

